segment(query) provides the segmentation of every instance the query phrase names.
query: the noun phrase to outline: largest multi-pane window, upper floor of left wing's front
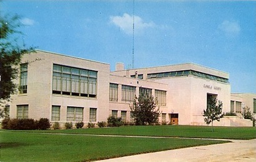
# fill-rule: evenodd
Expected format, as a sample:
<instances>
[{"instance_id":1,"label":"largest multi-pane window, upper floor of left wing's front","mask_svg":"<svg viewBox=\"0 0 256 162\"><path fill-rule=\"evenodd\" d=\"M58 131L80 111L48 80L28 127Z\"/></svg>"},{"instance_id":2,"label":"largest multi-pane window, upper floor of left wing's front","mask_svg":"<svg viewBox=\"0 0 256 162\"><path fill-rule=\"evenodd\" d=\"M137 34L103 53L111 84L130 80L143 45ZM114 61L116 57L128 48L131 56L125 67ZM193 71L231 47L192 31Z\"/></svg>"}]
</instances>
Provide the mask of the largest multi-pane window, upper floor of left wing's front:
<instances>
[{"instance_id":1,"label":"largest multi-pane window, upper floor of left wing's front","mask_svg":"<svg viewBox=\"0 0 256 162\"><path fill-rule=\"evenodd\" d=\"M96 97L97 71L53 65L52 93Z\"/></svg>"}]
</instances>

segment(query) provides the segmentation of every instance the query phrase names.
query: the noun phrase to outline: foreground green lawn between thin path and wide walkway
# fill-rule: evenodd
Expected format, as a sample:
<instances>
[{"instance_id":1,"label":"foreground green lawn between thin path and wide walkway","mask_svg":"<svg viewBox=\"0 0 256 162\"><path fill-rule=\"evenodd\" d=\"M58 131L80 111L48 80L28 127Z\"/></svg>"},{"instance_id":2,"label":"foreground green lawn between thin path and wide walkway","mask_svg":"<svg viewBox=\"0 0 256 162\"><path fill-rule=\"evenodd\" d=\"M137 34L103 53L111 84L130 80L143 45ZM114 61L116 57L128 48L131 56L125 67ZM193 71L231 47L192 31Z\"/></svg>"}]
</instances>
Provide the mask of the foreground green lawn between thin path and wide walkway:
<instances>
[{"instance_id":1,"label":"foreground green lawn between thin path and wide walkway","mask_svg":"<svg viewBox=\"0 0 256 162\"><path fill-rule=\"evenodd\" d=\"M225 142L3 131L0 159L1 161L91 161L216 143Z\"/></svg>"}]
</instances>

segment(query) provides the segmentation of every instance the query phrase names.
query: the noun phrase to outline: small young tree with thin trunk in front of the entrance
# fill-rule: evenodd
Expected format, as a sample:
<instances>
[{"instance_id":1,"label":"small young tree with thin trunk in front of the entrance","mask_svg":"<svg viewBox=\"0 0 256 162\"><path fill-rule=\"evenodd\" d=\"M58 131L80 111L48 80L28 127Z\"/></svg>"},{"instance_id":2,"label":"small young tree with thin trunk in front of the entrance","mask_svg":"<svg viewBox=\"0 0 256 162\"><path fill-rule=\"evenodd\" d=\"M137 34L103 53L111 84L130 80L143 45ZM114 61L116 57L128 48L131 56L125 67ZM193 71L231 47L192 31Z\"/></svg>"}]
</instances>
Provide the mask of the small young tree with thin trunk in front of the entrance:
<instances>
[{"instance_id":1,"label":"small young tree with thin trunk in front of the entrance","mask_svg":"<svg viewBox=\"0 0 256 162\"><path fill-rule=\"evenodd\" d=\"M220 121L223 117L222 114L222 101L217 101L217 98L210 96L209 102L207 103L207 108L204 110L204 121L207 125L212 123L212 132L214 132L214 120Z\"/></svg>"}]
</instances>

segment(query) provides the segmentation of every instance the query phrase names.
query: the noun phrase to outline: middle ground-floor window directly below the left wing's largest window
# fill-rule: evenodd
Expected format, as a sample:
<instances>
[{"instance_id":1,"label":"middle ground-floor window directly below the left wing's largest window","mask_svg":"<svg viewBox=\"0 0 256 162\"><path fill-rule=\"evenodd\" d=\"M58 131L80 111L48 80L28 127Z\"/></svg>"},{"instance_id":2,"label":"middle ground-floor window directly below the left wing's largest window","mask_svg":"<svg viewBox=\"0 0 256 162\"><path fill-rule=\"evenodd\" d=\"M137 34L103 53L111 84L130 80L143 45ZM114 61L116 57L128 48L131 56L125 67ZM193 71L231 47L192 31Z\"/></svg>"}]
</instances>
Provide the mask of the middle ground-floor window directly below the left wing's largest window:
<instances>
[{"instance_id":1,"label":"middle ground-floor window directly below the left wing's largest window","mask_svg":"<svg viewBox=\"0 0 256 162\"><path fill-rule=\"evenodd\" d=\"M84 108L82 107L67 107L67 121L79 121L84 118Z\"/></svg>"}]
</instances>

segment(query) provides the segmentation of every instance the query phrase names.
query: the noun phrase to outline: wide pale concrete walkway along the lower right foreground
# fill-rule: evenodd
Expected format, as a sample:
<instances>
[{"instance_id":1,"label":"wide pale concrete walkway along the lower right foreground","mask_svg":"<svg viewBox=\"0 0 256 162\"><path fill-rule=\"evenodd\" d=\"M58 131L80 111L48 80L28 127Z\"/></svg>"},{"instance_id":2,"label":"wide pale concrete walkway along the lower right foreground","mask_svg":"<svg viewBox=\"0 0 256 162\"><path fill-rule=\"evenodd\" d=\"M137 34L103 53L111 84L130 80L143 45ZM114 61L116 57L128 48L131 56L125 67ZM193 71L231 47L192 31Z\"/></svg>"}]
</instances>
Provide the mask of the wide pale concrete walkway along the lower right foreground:
<instances>
[{"instance_id":1,"label":"wide pale concrete walkway along the lower right foreground","mask_svg":"<svg viewBox=\"0 0 256 162\"><path fill-rule=\"evenodd\" d=\"M256 139L232 140L232 143L195 146L101 160L101 162L114 161L256 161Z\"/></svg>"}]
</instances>

